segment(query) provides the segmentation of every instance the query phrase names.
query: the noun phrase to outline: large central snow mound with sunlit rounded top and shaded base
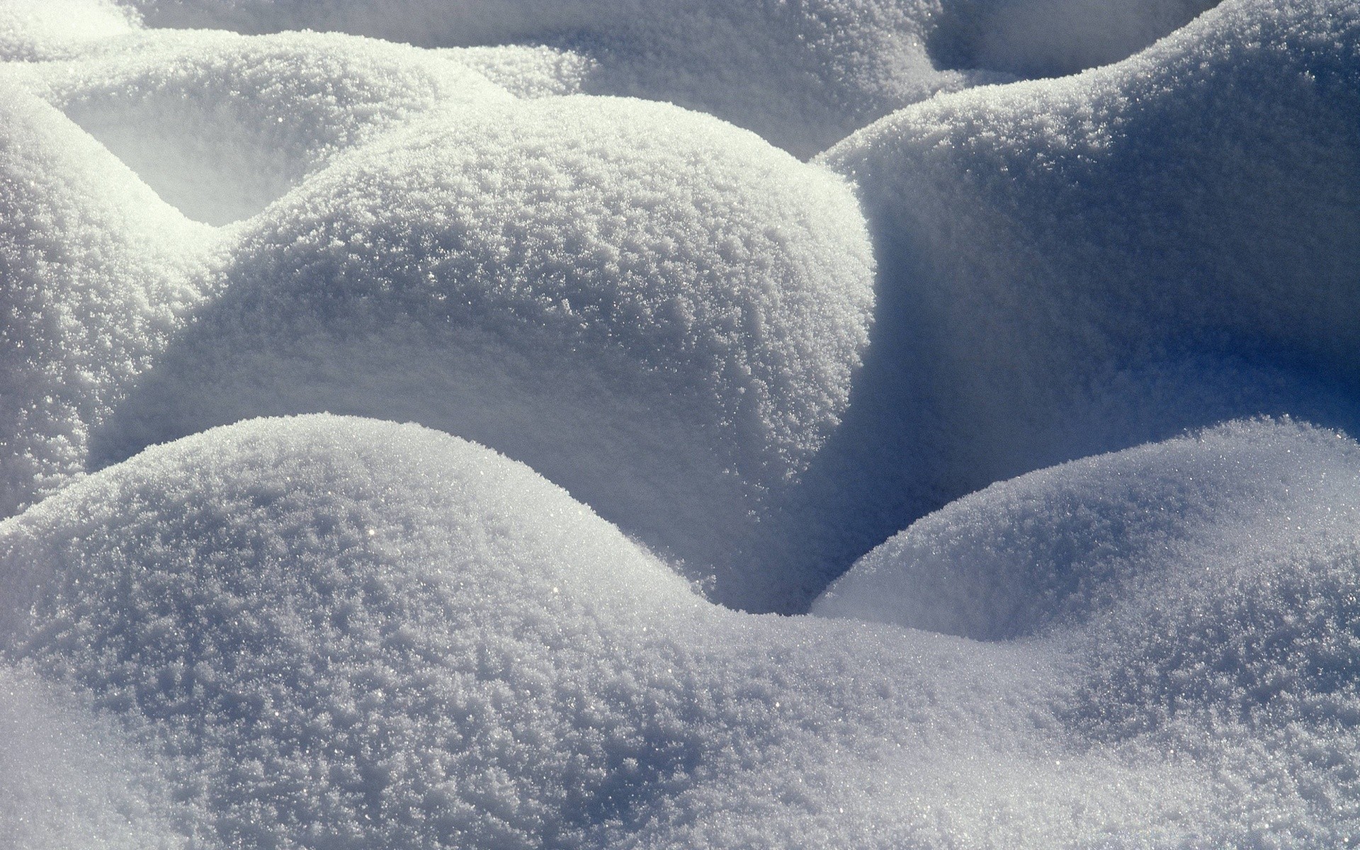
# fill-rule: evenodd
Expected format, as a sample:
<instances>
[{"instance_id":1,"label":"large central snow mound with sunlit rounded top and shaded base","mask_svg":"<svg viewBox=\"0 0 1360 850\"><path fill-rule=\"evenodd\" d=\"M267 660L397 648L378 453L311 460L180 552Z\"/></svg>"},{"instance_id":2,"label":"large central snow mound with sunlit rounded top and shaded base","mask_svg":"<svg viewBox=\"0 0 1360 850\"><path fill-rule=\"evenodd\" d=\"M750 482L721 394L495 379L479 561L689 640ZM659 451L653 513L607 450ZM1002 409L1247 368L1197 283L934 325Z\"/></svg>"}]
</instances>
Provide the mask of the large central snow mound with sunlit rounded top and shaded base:
<instances>
[{"instance_id":1,"label":"large central snow mound with sunlit rounded top and shaded base","mask_svg":"<svg viewBox=\"0 0 1360 850\"><path fill-rule=\"evenodd\" d=\"M779 607L770 494L846 409L872 277L845 181L718 120L447 110L253 219L98 460L256 415L411 419Z\"/></svg>"}]
</instances>

